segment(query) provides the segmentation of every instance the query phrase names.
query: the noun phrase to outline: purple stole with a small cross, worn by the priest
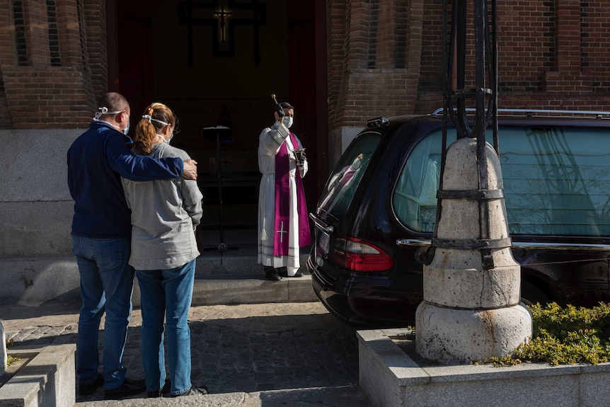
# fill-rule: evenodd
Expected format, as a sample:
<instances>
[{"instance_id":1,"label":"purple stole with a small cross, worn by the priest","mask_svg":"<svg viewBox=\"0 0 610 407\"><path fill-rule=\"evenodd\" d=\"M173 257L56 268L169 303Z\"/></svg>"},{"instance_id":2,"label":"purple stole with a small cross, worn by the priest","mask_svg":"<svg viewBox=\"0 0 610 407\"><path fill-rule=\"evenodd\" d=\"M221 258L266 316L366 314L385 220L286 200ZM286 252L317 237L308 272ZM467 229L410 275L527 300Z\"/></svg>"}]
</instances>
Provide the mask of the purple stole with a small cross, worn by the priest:
<instances>
[{"instance_id":1,"label":"purple stole with a small cross, worn by the priest","mask_svg":"<svg viewBox=\"0 0 610 407\"><path fill-rule=\"evenodd\" d=\"M294 134L290 133L290 141L294 148L299 148L299 142ZM288 235L290 230L290 159L286 143L282 143L280 151L275 154L275 221L273 233L273 256L287 256ZM309 234L309 219L307 218L307 205L303 191L303 180L297 167L297 213L299 214L299 247L311 243ZM285 235L285 236L284 236Z\"/></svg>"}]
</instances>

